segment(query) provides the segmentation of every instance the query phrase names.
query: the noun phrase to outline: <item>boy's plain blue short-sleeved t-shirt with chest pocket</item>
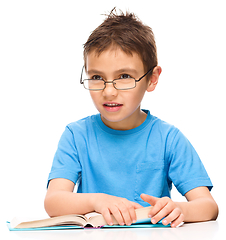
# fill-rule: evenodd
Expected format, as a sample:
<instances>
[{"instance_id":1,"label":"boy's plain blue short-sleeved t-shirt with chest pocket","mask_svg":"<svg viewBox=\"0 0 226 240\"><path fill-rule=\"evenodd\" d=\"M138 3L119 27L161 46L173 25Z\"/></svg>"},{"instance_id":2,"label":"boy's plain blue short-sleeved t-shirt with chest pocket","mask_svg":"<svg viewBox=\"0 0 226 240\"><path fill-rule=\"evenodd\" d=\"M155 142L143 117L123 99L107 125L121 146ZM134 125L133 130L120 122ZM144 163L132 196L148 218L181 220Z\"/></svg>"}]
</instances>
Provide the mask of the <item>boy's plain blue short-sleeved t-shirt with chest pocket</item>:
<instances>
[{"instance_id":1,"label":"boy's plain blue short-sleeved t-shirt with chest pocket","mask_svg":"<svg viewBox=\"0 0 226 240\"><path fill-rule=\"evenodd\" d=\"M187 138L154 117L137 128L107 127L100 114L69 124L59 141L49 181L65 178L79 193L106 193L143 206L140 194L170 197L172 183L184 195L212 183Z\"/></svg>"}]
</instances>

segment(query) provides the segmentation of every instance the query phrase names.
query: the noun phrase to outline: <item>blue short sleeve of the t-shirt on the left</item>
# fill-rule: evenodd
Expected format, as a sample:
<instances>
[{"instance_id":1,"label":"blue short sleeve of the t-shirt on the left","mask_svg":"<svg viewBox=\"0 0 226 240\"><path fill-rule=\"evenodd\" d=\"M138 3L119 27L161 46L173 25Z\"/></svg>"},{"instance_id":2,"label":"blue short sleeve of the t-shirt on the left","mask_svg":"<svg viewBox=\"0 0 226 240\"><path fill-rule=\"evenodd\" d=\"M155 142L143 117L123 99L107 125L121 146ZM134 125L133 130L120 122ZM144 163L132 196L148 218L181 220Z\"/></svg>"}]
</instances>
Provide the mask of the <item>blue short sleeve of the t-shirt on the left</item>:
<instances>
[{"instance_id":1,"label":"blue short sleeve of the t-shirt on the left","mask_svg":"<svg viewBox=\"0 0 226 240\"><path fill-rule=\"evenodd\" d=\"M69 127L66 127L53 159L48 184L54 178L65 178L76 184L80 175L81 165L75 146L74 135Z\"/></svg>"}]
</instances>

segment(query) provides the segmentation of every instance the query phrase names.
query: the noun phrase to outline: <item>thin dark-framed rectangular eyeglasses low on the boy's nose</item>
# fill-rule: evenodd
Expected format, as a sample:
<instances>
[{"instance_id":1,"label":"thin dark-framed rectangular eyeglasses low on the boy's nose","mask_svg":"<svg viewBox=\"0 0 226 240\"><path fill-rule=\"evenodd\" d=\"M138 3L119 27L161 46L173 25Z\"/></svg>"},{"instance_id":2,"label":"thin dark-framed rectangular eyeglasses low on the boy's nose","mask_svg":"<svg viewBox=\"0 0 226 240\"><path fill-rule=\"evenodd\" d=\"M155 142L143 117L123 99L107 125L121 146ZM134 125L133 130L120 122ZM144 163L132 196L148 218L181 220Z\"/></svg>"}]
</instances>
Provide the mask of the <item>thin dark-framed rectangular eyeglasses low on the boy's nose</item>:
<instances>
[{"instance_id":1,"label":"thin dark-framed rectangular eyeglasses low on the boy's nose","mask_svg":"<svg viewBox=\"0 0 226 240\"><path fill-rule=\"evenodd\" d=\"M112 83L114 88L117 90L129 90L129 89L135 88L136 83L139 82L145 76L147 76L149 73L152 73L154 68L155 68L155 66L153 68L151 68L150 70L148 70L138 80L130 77L127 74L124 74L125 78L114 79L113 81L105 81L103 79L83 79L83 70L84 70L84 66L83 66L80 83L83 84L85 89L90 90L90 91L104 90L106 88L107 83Z\"/></svg>"}]
</instances>

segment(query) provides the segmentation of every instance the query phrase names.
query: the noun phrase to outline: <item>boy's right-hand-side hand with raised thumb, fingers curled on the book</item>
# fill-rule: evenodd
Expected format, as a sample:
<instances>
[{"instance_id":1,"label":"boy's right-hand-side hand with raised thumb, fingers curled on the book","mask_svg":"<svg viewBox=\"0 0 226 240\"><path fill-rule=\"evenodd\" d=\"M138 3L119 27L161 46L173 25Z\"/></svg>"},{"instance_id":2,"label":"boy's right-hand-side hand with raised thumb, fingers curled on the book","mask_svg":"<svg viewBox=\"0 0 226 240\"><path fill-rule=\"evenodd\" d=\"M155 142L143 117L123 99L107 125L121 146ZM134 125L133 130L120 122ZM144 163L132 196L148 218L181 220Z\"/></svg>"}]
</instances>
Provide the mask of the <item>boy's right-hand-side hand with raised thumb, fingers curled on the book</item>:
<instances>
[{"instance_id":1,"label":"boy's right-hand-side hand with raised thumb, fingers curled on the book","mask_svg":"<svg viewBox=\"0 0 226 240\"><path fill-rule=\"evenodd\" d=\"M156 198L147 194L141 194L141 198L153 206L149 213L153 224L159 222L164 217L162 223L164 225L171 223L171 227L176 227L184 221L182 210L170 198Z\"/></svg>"}]
</instances>

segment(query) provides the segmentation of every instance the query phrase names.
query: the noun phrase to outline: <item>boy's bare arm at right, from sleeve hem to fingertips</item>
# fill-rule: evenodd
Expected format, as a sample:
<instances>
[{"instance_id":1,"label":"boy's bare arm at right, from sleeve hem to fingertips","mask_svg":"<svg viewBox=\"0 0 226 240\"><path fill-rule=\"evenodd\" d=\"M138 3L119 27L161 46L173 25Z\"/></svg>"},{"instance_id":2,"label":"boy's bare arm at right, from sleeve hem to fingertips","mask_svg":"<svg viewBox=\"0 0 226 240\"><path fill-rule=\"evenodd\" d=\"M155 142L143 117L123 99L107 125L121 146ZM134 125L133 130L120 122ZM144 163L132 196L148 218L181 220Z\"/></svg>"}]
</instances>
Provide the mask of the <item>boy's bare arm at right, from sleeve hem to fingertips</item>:
<instances>
[{"instance_id":1,"label":"boy's bare arm at right, from sleeve hem to fingertips","mask_svg":"<svg viewBox=\"0 0 226 240\"><path fill-rule=\"evenodd\" d=\"M216 220L218 206L207 187L194 188L185 194L188 202L173 202L170 198L156 198L142 194L141 198L151 204L150 211L152 223L157 223L163 217L163 224L171 223L171 227L178 226L181 222L201 222Z\"/></svg>"}]
</instances>

